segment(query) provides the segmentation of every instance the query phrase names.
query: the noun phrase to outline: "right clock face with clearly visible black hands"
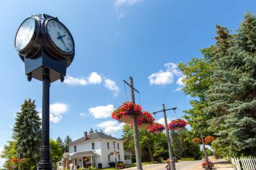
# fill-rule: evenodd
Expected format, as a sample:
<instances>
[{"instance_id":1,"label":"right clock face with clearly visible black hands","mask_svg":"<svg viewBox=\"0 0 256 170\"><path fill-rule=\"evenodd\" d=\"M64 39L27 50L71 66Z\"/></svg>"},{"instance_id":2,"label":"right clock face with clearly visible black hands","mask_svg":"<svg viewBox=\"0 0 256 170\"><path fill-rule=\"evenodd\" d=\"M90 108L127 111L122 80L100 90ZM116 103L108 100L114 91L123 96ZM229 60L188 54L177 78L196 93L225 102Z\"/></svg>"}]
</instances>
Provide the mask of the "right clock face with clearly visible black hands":
<instances>
[{"instance_id":1,"label":"right clock face with clearly visible black hands","mask_svg":"<svg viewBox=\"0 0 256 170\"><path fill-rule=\"evenodd\" d=\"M73 38L67 28L54 19L49 20L46 26L47 32L53 44L59 50L71 53L74 50Z\"/></svg>"}]
</instances>

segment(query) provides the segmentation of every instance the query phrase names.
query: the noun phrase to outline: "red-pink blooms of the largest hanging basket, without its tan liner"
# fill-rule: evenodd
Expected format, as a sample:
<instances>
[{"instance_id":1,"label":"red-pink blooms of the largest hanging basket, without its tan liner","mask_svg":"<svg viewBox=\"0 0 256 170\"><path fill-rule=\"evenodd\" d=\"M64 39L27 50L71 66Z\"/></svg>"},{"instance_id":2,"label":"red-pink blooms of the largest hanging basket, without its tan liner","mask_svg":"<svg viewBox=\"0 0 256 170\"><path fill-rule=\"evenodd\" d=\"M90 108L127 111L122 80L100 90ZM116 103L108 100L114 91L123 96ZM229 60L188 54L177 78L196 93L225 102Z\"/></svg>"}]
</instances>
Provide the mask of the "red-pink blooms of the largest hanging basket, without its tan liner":
<instances>
[{"instance_id":1,"label":"red-pink blooms of the largest hanging basket, without its tan liner","mask_svg":"<svg viewBox=\"0 0 256 170\"><path fill-rule=\"evenodd\" d=\"M132 102L125 102L123 105L119 106L119 108L117 108L117 110L115 110L111 116L113 119L119 121L121 121L122 116L133 116L137 118L141 116L141 110L142 108L140 105L136 105Z\"/></svg>"}]
</instances>

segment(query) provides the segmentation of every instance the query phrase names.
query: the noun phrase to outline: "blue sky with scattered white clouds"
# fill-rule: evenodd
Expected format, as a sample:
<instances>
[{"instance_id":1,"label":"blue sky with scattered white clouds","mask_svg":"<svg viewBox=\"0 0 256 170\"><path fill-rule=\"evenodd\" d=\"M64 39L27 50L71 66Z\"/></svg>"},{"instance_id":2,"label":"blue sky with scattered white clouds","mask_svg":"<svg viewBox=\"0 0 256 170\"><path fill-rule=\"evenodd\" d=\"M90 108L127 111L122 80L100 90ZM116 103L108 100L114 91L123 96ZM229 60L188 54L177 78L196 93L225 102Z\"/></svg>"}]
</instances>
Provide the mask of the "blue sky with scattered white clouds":
<instances>
[{"instance_id":1,"label":"blue sky with scattered white clouds","mask_svg":"<svg viewBox=\"0 0 256 170\"><path fill-rule=\"evenodd\" d=\"M59 18L75 40L75 59L64 83L51 85L51 138L102 129L119 137L123 124L110 118L131 99L123 79L133 77L143 110L177 107L168 118L181 118L190 108L182 87L179 62L201 57L199 50L215 43L216 24L233 32L256 1L94 0L0 1L0 150L11 140L15 112L24 99L42 103L42 83L28 82L24 63L14 48L20 24L37 13ZM135 95L136 103L139 97ZM156 115L161 122L162 114ZM3 160L0 161L0 167Z\"/></svg>"}]
</instances>

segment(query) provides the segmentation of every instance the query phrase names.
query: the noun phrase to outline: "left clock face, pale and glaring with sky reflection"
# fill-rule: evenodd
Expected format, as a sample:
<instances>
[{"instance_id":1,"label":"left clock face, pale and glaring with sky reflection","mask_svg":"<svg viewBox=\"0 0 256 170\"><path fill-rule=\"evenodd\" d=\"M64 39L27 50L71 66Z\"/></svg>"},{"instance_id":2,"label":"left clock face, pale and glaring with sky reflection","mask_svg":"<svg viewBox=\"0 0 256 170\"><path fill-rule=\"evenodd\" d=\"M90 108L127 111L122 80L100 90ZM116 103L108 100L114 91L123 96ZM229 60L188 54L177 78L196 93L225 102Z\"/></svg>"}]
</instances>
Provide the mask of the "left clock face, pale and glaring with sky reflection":
<instances>
[{"instance_id":1,"label":"left clock face, pale and glaring with sky reflection","mask_svg":"<svg viewBox=\"0 0 256 170\"><path fill-rule=\"evenodd\" d=\"M16 38L15 48L17 50L23 50L32 39L36 28L36 21L33 18L26 19L20 26Z\"/></svg>"}]
</instances>

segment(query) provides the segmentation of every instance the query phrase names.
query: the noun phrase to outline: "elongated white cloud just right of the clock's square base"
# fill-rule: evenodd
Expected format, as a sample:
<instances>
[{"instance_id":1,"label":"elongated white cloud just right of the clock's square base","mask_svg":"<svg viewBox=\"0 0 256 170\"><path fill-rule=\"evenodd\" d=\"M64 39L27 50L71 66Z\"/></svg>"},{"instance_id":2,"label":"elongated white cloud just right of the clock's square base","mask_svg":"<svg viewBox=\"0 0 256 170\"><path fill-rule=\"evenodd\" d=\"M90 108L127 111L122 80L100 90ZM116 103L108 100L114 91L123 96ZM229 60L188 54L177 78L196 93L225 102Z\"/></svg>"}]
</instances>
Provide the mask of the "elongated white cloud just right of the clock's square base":
<instances>
[{"instance_id":1,"label":"elongated white cloud just right of the clock's square base","mask_svg":"<svg viewBox=\"0 0 256 170\"><path fill-rule=\"evenodd\" d=\"M88 77L86 78L84 77L75 78L67 75L67 77L65 77L65 80L64 80L64 83L66 83L67 85L82 85L82 86L97 85L97 84L100 84L101 82L102 82L102 78L96 72L90 73L90 75L88 75Z\"/></svg>"}]
</instances>

